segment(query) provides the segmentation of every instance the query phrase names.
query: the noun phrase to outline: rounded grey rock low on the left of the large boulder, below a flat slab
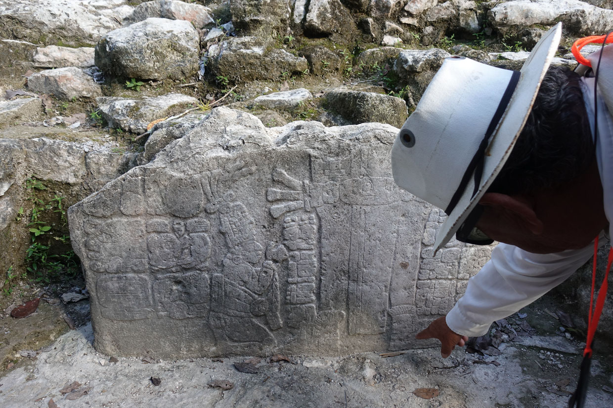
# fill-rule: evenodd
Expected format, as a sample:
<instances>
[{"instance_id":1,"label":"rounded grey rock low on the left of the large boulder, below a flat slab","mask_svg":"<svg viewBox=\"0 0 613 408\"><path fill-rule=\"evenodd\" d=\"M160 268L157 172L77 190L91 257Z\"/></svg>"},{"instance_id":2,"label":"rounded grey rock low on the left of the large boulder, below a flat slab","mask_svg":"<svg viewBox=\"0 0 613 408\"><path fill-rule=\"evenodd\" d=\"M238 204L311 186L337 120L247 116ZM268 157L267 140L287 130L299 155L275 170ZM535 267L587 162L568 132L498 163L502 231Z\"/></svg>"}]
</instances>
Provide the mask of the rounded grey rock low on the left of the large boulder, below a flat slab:
<instances>
[{"instance_id":1,"label":"rounded grey rock low on the left of the large boulder, below a flat slab","mask_svg":"<svg viewBox=\"0 0 613 408\"><path fill-rule=\"evenodd\" d=\"M94 82L94 78L77 67L45 69L32 74L28 77L28 88L63 100L102 96L100 85Z\"/></svg>"}]
</instances>

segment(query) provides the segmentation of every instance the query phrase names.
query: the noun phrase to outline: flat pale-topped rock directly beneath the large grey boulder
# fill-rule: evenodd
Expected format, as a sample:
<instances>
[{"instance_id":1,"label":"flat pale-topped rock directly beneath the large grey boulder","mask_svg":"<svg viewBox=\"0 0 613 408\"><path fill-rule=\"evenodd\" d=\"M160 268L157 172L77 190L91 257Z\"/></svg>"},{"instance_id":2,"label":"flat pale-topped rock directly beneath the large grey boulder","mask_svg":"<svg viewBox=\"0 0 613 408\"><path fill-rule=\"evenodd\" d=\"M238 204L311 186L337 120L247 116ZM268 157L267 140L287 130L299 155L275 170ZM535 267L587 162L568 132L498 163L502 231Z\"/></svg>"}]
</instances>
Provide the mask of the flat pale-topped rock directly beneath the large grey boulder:
<instances>
[{"instance_id":1,"label":"flat pale-topped rock directly beneath the large grey boulder","mask_svg":"<svg viewBox=\"0 0 613 408\"><path fill-rule=\"evenodd\" d=\"M177 115L187 108L195 107L198 100L183 94L166 94L139 99L102 96L97 98L96 102L102 118L107 121L109 127L143 133L152 121Z\"/></svg>"}]
</instances>

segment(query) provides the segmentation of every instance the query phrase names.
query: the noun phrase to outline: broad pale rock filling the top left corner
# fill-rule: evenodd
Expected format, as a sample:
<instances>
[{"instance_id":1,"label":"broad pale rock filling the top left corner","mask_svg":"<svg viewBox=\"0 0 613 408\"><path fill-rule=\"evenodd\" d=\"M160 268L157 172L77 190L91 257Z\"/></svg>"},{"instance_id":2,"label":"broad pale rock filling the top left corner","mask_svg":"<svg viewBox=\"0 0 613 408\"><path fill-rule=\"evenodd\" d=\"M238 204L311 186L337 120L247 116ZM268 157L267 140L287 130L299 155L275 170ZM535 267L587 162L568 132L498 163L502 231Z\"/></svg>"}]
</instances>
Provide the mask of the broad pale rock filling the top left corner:
<instances>
[{"instance_id":1,"label":"broad pale rock filling the top left corner","mask_svg":"<svg viewBox=\"0 0 613 408\"><path fill-rule=\"evenodd\" d=\"M0 3L0 37L37 44L93 45L119 23L82 0L15 0Z\"/></svg>"}]
</instances>

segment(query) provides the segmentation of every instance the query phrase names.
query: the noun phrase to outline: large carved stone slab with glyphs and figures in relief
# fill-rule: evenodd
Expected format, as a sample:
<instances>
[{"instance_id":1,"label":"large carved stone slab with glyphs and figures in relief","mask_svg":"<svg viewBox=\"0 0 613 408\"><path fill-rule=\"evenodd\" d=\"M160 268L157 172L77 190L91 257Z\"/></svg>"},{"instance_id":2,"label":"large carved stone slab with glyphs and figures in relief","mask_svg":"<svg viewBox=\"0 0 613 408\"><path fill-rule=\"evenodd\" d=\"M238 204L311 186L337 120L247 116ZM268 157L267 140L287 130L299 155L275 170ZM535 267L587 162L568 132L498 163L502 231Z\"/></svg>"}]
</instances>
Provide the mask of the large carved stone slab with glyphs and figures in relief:
<instances>
[{"instance_id":1,"label":"large carved stone slab with glyphs and figures in relief","mask_svg":"<svg viewBox=\"0 0 613 408\"><path fill-rule=\"evenodd\" d=\"M69 211L97 349L193 357L414 347L489 255L401 191L393 127L214 110Z\"/></svg>"}]
</instances>

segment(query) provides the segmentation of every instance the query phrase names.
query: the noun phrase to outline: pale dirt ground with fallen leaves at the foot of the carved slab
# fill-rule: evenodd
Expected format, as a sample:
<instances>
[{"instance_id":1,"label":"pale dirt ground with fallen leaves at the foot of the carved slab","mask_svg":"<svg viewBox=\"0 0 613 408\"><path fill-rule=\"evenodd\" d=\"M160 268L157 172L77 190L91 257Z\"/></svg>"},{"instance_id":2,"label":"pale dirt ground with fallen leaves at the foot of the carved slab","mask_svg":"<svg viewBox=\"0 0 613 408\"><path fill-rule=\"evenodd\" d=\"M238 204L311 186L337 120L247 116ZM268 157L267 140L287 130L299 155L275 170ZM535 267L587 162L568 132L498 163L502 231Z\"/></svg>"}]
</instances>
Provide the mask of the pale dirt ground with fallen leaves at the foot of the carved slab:
<instances>
[{"instance_id":1,"label":"pale dirt ground with fallen leaves at the foot of the carved slab","mask_svg":"<svg viewBox=\"0 0 613 408\"><path fill-rule=\"evenodd\" d=\"M392 357L376 352L328 358L276 355L247 361L242 369L248 372L237 366L249 356L115 358L93 349L91 323L59 338L54 336L60 323L40 325L43 317L53 320L50 308L61 319L86 315L87 307L86 300L70 310L41 303L37 314L26 319L0 320L2 341L10 344L2 344L3 353L13 362L0 377L1 407L554 408L566 406L581 362L581 343L556 333L560 322L546 301L523 311L536 331L503 342L500 353L490 352L496 355L465 349L454 350L447 359L438 349ZM30 331L24 328L28 324ZM612 391L611 357L596 352L587 406L613 406Z\"/></svg>"}]
</instances>

